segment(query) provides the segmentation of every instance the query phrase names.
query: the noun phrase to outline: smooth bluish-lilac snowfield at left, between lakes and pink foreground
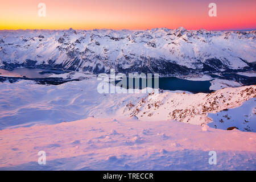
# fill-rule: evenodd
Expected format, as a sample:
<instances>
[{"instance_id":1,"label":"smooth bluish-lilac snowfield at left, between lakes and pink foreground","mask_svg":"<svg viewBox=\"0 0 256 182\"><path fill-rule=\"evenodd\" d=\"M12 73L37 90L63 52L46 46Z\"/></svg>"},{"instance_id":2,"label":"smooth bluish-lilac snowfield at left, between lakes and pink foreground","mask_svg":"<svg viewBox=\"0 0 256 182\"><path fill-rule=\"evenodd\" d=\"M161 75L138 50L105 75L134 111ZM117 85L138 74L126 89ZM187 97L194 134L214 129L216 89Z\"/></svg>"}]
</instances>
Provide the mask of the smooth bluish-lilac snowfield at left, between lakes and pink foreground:
<instances>
[{"instance_id":1,"label":"smooth bluish-lilac snowfield at left, between lakes and pink foreground","mask_svg":"<svg viewBox=\"0 0 256 182\"><path fill-rule=\"evenodd\" d=\"M73 76L80 77L80 74ZM95 76L61 85L34 81L0 84L0 129L69 122L87 117L111 117L115 111L145 94L100 94Z\"/></svg>"}]
</instances>

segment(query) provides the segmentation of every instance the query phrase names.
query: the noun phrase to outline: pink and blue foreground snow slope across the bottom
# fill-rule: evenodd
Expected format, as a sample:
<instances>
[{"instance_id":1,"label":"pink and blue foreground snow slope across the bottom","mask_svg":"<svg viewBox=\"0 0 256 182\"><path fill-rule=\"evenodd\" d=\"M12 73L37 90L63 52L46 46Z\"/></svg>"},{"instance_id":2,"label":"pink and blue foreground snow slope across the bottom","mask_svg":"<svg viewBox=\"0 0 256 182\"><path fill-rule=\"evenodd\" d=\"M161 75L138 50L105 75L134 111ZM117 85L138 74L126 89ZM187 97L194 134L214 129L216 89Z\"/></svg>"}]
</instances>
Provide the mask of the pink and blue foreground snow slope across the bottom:
<instances>
[{"instance_id":1,"label":"pink and blue foreground snow slope across the bottom","mask_svg":"<svg viewBox=\"0 0 256 182\"><path fill-rule=\"evenodd\" d=\"M87 118L0 131L1 170L255 170L256 134L173 121ZM46 152L46 165L38 152ZM209 151L217 164L210 165Z\"/></svg>"}]
</instances>

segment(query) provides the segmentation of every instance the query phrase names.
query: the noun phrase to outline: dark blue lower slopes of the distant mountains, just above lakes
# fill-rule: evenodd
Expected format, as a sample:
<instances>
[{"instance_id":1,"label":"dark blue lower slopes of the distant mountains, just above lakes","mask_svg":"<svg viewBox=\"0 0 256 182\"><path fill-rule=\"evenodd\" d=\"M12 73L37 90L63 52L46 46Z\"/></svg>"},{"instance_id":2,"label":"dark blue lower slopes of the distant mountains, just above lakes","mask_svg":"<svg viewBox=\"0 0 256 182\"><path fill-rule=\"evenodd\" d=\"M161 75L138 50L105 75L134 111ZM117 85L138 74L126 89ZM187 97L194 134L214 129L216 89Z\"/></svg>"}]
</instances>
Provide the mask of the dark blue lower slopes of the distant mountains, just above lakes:
<instances>
[{"instance_id":1,"label":"dark blue lower slopes of the distant mountains, just above lakes","mask_svg":"<svg viewBox=\"0 0 256 182\"><path fill-rule=\"evenodd\" d=\"M76 52L69 52L69 55L76 56ZM130 59L129 57L126 57ZM100 60L101 57L98 57ZM93 74L99 73L110 73L110 69L115 69L116 73L125 73L126 75L133 72L138 73L159 73L160 76L187 76L190 74L197 74L197 73L222 73L220 78L227 79L227 80L234 80L238 82L242 82L243 84L250 82L250 84L255 84L255 77L247 77L242 75L235 74L236 72L245 72L245 71L256 71L254 69L256 64L253 64L253 67L245 67L244 69L228 69L221 63L219 60L208 60L207 63L202 63L203 68L193 69L188 68L183 65L179 65L171 60L162 60L162 59L154 59L154 58L146 58L143 57L143 62L141 60L137 61L137 64L131 65L129 68L123 68L120 64L108 64L107 66L102 63L94 63L92 60L81 60L79 56L76 56L72 62L64 61L61 64L56 64L53 60L48 60L47 63L43 62L42 64L36 64L37 61L33 60L26 60L22 64L19 63L7 63L3 61L3 66L0 68L6 70L13 70L14 68L19 67L28 67L28 68L55 68L55 69L63 69L65 71L77 71L82 69L82 72L89 72ZM81 61L88 61L94 63L93 66L81 66ZM108 69L106 69L108 68ZM224 71L220 71L220 69L224 69ZM226 74L225 74L226 73Z\"/></svg>"}]
</instances>

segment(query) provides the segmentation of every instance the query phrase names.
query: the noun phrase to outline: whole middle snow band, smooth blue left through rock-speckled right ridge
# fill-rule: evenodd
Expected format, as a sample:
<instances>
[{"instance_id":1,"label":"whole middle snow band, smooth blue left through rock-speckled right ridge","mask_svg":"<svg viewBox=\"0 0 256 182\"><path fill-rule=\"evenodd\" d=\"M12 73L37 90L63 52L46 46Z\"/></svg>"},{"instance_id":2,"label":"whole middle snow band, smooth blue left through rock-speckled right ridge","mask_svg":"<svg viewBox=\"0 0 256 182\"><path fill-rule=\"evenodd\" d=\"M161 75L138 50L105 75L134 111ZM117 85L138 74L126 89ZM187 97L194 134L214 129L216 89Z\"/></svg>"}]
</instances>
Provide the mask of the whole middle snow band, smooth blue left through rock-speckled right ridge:
<instances>
[{"instance_id":1,"label":"whole middle snow band, smooth blue left through rock-speckled right ridge","mask_svg":"<svg viewBox=\"0 0 256 182\"><path fill-rule=\"evenodd\" d=\"M208 113L238 107L256 97L255 85L225 88L209 94L182 91L100 94L97 92L100 81L95 76L83 76L87 79L57 86L38 85L26 80L0 84L0 129L69 122L87 117L127 119L133 115L142 121L174 119L204 125L212 122ZM252 103L252 106L255 107L255 104ZM253 131L256 128L253 127Z\"/></svg>"}]
</instances>

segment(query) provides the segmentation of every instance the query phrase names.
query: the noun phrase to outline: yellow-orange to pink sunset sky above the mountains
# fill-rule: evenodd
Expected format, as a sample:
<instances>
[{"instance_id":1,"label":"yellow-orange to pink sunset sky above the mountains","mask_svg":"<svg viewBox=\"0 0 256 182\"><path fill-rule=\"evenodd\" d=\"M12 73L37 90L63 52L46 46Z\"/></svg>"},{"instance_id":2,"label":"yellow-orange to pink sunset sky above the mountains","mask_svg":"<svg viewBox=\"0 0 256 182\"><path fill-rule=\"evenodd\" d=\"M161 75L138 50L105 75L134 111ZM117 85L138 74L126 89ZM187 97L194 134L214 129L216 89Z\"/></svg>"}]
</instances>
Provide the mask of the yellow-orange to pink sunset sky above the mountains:
<instances>
[{"instance_id":1,"label":"yellow-orange to pink sunset sky above the mountains","mask_svg":"<svg viewBox=\"0 0 256 182\"><path fill-rule=\"evenodd\" d=\"M46 4L46 17L38 4ZM208 5L217 5L209 17ZM5 29L150 29L207 30L256 28L255 0L0 0L0 30Z\"/></svg>"}]
</instances>

